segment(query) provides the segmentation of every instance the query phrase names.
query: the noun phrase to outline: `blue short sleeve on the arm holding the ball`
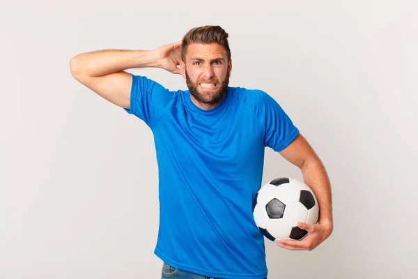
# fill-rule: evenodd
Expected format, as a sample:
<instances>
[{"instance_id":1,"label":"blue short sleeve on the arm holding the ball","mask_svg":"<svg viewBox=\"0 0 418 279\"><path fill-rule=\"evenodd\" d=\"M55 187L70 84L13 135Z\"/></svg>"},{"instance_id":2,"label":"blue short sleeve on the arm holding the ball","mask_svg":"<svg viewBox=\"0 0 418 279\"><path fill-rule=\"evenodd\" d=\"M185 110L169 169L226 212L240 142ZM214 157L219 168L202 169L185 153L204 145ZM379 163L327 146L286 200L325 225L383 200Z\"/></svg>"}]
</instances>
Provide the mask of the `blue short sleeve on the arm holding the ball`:
<instances>
[{"instance_id":1,"label":"blue short sleeve on the arm holding the ball","mask_svg":"<svg viewBox=\"0 0 418 279\"><path fill-rule=\"evenodd\" d=\"M263 120L265 124L265 146L274 151L282 151L299 134L290 117L270 95L263 98Z\"/></svg>"}]
</instances>

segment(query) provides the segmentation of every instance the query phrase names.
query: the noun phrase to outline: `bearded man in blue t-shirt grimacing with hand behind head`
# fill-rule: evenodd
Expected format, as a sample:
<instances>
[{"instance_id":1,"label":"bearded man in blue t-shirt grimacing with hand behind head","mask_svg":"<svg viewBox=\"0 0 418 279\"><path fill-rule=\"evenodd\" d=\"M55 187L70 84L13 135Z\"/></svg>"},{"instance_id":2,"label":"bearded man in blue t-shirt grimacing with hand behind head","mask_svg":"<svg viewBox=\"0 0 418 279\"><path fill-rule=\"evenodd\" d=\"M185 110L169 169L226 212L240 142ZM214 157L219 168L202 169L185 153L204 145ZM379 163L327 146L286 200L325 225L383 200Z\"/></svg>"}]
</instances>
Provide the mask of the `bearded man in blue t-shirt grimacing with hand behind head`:
<instances>
[{"instance_id":1,"label":"bearded man in blue t-shirt grimacing with hand behind head","mask_svg":"<svg viewBox=\"0 0 418 279\"><path fill-rule=\"evenodd\" d=\"M124 71L144 67L183 75L189 91L169 91ZM330 236L330 183L320 159L267 93L229 86L231 50L221 27L194 28L153 51L79 54L70 68L79 82L153 131L162 278L266 278L264 238L252 215L265 146L300 167L321 212L318 224L299 225L306 239L278 246L312 250Z\"/></svg>"}]
</instances>

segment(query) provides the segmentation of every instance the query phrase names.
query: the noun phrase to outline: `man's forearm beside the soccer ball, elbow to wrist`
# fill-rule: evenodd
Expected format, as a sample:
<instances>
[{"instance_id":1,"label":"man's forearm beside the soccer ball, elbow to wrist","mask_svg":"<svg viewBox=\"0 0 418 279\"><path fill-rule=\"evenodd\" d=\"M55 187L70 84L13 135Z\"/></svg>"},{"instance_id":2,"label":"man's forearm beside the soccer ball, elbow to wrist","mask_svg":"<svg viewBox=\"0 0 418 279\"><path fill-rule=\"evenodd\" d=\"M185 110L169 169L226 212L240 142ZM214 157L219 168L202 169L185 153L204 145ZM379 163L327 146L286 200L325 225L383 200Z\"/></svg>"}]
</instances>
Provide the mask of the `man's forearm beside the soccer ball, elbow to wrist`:
<instances>
[{"instance_id":1,"label":"man's forearm beside the soccer ball, elbow to wrist","mask_svg":"<svg viewBox=\"0 0 418 279\"><path fill-rule=\"evenodd\" d=\"M330 180L325 167L319 159L306 162L301 167L304 182L314 191L320 209L320 224L330 226L332 230L332 195Z\"/></svg>"}]
</instances>

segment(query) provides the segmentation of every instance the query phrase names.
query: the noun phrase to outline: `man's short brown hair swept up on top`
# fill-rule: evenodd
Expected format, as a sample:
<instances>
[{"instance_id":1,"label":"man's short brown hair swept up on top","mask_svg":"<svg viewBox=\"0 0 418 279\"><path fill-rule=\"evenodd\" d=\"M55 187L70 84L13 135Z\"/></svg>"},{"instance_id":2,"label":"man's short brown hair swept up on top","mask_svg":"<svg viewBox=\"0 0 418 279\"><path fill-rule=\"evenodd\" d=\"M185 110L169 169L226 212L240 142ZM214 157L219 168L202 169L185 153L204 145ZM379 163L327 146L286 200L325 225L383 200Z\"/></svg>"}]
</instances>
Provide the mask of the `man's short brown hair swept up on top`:
<instances>
[{"instance_id":1,"label":"man's short brown hair swept up on top","mask_svg":"<svg viewBox=\"0 0 418 279\"><path fill-rule=\"evenodd\" d=\"M228 56L228 61L230 61L231 50L229 49L228 36L228 33L226 33L226 31L222 29L222 27L214 25L207 25L204 27L196 27L194 29L191 29L183 37L181 59L185 61L187 47L191 43L218 43L219 45L222 45L224 47L224 49L226 50L226 56Z\"/></svg>"}]
</instances>

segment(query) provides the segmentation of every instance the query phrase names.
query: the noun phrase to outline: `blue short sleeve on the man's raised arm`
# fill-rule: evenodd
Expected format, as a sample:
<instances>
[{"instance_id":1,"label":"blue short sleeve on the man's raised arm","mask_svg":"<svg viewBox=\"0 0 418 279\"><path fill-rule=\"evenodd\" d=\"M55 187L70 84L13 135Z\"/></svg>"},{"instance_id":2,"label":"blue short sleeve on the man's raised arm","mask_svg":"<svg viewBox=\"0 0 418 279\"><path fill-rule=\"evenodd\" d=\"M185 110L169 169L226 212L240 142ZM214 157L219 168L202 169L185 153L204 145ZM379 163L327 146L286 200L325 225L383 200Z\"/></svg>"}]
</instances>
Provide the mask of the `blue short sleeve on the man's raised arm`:
<instances>
[{"instance_id":1,"label":"blue short sleeve on the man's raised arm","mask_svg":"<svg viewBox=\"0 0 418 279\"><path fill-rule=\"evenodd\" d=\"M168 89L147 77L132 75L130 109L125 111L134 114L148 126L152 126L162 113L164 98L169 96L168 92Z\"/></svg>"}]
</instances>

